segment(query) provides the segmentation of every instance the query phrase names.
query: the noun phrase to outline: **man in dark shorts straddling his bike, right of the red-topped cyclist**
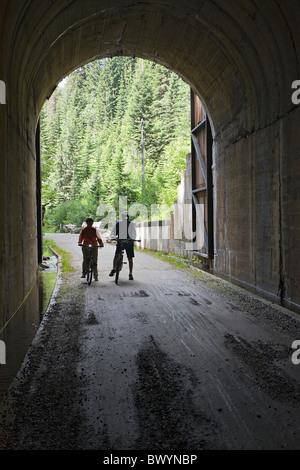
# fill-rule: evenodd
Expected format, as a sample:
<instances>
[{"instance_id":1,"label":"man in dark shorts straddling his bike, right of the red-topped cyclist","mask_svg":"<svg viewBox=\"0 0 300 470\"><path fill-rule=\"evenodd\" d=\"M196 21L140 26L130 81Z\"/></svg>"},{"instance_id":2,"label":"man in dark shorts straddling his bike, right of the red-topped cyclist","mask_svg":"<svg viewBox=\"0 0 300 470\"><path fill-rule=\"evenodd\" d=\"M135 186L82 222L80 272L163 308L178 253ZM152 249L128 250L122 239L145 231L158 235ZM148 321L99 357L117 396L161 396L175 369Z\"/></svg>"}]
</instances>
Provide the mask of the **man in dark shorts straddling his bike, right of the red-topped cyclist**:
<instances>
[{"instance_id":1,"label":"man in dark shorts straddling his bike, right of the red-topped cyclist","mask_svg":"<svg viewBox=\"0 0 300 470\"><path fill-rule=\"evenodd\" d=\"M121 251L121 244L119 240L129 240L128 243L125 245L125 250L128 258L128 266L129 266L129 280L133 281L133 258L134 258L134 246L133 241L136 238L136 231L133 222L129 222L128 212L122 213L122 220L117 222L114 229L111 232L112 236L118 237L116 252L113 260L113 269L109 273L109 276L113 276L116 272L116 261L117 261L117 254Z\"/></svg>"}]
</instances>

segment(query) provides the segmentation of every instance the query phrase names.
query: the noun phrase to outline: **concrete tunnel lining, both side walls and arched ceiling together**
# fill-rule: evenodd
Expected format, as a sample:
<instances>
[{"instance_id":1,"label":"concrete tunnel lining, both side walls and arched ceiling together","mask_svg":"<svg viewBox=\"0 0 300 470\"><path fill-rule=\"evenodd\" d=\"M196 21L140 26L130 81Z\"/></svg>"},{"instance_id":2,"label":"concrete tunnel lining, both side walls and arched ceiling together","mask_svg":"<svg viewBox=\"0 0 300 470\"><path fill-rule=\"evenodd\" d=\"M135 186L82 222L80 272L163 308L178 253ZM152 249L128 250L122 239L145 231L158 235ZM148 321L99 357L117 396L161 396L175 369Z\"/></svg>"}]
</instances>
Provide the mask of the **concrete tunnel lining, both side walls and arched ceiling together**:
<instances>
[{"instance_id":1,"label":"concrete tunnel lining, both side walls and arched ceiling together","mask_svg":"<svg viewBox=\"0 0 300 470\"><path fill-rule=\"evenodd\" d=\"M207 110L212 271L300 309L299 23L297 0L1 1L0 330L36 289L41 108L75 68L122 55L176 72Z\"/></svg>"}]
</instances>

